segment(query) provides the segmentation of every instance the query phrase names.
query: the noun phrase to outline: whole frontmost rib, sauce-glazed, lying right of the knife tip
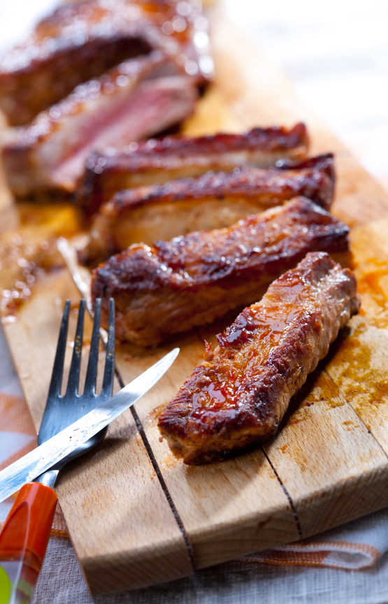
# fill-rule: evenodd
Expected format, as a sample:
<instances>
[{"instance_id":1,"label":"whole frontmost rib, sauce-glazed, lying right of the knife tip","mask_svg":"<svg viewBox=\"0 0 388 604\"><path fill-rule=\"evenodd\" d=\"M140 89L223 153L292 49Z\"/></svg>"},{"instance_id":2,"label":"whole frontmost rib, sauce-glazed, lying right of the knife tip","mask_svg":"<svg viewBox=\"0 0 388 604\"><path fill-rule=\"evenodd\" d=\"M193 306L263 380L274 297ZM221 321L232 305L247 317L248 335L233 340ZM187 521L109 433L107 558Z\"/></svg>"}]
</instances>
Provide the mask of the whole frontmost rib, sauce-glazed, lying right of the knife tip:
<instances>
[{"instance_id":1,"label":"whole frontmost rib, sauce-glazed, lying right of the knife tip","mask_svg":"<svg viewBox=\"0 0 388 604\"><path fill-rule=\"evenodd\" d=\"M291 397L359 311L357 283L327 253L308 253L224 334L159 415L185 464L221 461L276 429Z\"/></svg>"}]
</instances>

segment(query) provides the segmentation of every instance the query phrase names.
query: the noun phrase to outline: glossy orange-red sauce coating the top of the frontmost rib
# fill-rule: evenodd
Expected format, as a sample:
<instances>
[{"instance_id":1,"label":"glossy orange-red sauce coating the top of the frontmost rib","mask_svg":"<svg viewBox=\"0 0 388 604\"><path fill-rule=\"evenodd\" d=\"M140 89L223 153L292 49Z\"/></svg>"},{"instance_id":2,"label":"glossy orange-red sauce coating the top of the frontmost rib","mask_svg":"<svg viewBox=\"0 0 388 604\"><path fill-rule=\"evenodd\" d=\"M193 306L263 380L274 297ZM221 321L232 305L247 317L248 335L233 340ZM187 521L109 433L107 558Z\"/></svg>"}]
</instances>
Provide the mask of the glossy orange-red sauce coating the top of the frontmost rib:
<instances>
[{"instance_id":1,"label":"glossy orange-red sauce coating the top of the frontmost rib","mask_svg":"<svg viewBox=\"0 0 388 604\"><path fill-rule=\"evenodd\" d=\"M244 309L236 321L218 334L217 364L206 353L206 375L192 395L192 418L206 419L206 411L237 410L247 381L258 374L273 348L293 321L306 312L312 292L298 274L279 279L260 303Z\"/></svg>"}]
</instances>

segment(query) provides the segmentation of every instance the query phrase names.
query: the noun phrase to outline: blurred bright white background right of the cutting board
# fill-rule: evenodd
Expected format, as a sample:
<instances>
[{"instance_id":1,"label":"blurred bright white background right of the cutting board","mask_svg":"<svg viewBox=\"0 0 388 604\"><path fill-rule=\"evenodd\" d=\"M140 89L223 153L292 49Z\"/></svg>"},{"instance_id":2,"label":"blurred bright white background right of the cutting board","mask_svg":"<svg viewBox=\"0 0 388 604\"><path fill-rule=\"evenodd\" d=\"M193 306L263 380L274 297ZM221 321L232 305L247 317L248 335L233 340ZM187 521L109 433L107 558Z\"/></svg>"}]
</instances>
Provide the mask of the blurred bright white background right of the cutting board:
<instances>
[{"instance_id":1,"label":"blurred bright white background right of the cutting board","mask_svg":"<svg viewBox=\"0 0 388 604\"><path fill-rule=\"evenodd\" d=\"M388 189L388 0L224 0L224 6Z\"/></svg>"}]
</instances>

